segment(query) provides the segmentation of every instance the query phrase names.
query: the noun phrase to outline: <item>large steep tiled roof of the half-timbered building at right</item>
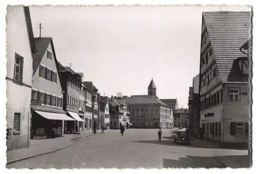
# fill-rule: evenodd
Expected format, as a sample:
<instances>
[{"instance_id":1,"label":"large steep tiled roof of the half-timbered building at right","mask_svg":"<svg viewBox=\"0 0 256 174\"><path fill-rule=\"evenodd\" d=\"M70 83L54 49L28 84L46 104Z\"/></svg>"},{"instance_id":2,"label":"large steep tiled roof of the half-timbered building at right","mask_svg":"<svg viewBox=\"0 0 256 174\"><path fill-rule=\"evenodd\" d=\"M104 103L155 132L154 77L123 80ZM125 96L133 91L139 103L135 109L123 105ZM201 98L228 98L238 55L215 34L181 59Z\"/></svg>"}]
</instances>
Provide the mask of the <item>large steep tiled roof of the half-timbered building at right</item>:
<instances>
[{"instance_id":1,"label":"large steep tiled roof of the half-timbered building at right","mask_svg":"<svg viewBox=\"0 0 256 174\"><path fill-rule=\"evenodd\" d=\"M206 30L222 82L243 83L234 60L244 57L240 47L251 37L251 12L203 12Z\"/></svg>"}]
</instances>

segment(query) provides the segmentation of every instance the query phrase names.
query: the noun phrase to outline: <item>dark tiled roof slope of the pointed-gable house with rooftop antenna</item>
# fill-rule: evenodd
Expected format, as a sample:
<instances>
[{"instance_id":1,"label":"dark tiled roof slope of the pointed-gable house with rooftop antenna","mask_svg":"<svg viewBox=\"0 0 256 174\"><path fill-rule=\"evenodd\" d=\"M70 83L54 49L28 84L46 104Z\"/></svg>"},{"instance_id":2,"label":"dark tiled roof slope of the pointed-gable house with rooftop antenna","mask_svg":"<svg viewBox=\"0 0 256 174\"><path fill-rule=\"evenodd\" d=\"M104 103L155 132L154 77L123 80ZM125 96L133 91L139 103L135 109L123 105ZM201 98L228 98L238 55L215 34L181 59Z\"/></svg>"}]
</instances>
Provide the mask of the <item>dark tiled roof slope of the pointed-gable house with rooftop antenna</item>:
<instances>
[{"instance_id":1,"label":"dark tiled roof slope of the pointed-gable house with rooftop antenna","mask_svg":"<svg viewBox=\"0 0 256 174\"><path fill-rule=\"evenodd\" d=\"M45 52L52 41L51 37L41 37L41 38L34 38L35 40L35 47L37 53L33 54L33 75L35 74L42 57L45 55Z\"/></svg>"}]
</instances>

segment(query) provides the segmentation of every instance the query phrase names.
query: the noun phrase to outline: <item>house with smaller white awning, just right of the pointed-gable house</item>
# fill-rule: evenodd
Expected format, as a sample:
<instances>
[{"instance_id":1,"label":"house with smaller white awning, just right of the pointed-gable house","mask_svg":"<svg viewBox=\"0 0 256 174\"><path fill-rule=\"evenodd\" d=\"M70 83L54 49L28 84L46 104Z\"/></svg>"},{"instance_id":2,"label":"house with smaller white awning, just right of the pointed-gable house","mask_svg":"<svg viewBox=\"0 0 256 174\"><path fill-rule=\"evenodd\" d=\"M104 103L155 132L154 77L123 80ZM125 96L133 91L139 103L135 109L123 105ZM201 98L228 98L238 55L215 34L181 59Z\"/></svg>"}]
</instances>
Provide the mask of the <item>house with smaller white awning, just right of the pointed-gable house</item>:
<instances>
[{"instance_id":1,"label":"house with smaller white awning, just right of the pointed-gable house","mask_svg":"<svg viewBox=\"0 0 256 174\"><path fill-rule=\"evenodd\" d=\"M79 122L83 119L79 116L79 98L81 88L81 75L74 72L70 67L64 67L58 62L61 81L63 84L63 110L74 121L65 121L65 133L79 132L81 127Z\"/></svg>"}]
</instances>

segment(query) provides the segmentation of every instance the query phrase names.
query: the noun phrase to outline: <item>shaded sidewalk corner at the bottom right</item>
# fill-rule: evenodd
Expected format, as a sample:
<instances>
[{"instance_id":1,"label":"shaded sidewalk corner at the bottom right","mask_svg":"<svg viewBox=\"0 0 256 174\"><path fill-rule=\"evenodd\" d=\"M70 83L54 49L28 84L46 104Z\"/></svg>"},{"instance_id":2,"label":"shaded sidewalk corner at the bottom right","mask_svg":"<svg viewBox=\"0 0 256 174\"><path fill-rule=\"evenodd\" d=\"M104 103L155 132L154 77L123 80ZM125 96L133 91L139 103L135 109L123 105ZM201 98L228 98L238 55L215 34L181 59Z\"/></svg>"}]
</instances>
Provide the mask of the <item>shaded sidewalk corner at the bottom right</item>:
<instances>
[{"instance_id":1,"label":"shaded sidewalk corner at the bottom right","mask_svg":"<svg viewBox=\"0 0 256 174\"><path fill-rule=\"evenodd\" d=\"M214 157L217 161L230 168L248 168L251 166L250 164L250 156L242 155L242 156L217 156Z\"/></svg>"}]
</instances>

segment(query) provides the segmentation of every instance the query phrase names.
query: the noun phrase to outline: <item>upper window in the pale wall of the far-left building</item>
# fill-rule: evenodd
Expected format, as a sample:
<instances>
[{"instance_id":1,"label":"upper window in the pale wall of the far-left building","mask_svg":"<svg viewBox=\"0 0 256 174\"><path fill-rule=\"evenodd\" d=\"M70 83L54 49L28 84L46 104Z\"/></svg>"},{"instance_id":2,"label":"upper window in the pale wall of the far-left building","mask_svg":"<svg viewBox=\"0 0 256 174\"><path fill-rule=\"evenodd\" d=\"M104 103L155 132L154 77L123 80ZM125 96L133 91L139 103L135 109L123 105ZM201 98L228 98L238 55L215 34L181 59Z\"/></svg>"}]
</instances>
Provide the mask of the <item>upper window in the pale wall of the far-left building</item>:
<instances>
[{"instance_id":1,"label":"upper window in the pale wall of the far-left building","mask_svg":"<svg viewBox=\"0 0 256 174\"><path fill-rule=\"evenodd\" d=\"M22 79L23 79L23 57L16 53L15 53L13 79L18 82L22 82Z\"/></svg>"}]
</instances>

